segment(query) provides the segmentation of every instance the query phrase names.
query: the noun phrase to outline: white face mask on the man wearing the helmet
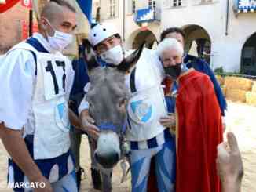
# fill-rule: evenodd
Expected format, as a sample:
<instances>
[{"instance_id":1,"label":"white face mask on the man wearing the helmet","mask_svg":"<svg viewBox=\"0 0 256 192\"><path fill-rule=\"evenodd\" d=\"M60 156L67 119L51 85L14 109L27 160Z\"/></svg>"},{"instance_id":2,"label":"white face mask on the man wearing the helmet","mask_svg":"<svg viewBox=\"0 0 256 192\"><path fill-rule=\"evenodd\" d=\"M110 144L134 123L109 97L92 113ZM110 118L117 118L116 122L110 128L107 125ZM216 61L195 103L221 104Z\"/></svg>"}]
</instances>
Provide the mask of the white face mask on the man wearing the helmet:
<instances>
[{"instance_id":1,"label":"white face mask on the man wearing the helmet","mask_svg":"<svg viewBox=\"0 0 256 192\"><path fill-rule=\"evenodd\" d=\"M101 53L101 59L106 63L111 63L114 65L119 65L123 61L124 53L121 45L116 45L112 49Z\"/></svg>"}]
</instances>

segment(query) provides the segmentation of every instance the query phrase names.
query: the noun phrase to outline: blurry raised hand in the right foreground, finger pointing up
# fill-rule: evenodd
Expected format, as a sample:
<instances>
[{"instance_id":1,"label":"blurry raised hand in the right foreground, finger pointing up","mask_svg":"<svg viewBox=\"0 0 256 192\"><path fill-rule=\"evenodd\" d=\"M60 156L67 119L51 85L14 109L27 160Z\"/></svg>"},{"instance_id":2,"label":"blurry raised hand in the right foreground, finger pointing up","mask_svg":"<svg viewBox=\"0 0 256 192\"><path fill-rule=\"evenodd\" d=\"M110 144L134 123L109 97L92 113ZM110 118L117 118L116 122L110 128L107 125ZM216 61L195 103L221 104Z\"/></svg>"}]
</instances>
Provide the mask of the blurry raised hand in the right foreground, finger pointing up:
<instances>
[{"instance_id":1,"label":"blurry raised hand in the right foreground, finger pointing up","mask_svg":"<svg viewBox=\"0 0 256 192\"><path fill-rule=\"evenodd\" d=\"M240 191L243 177L243 161L232 132L227 134L228 143L218 145L217 170L224 191ZM230 190L229 190L230 189Z\"/></svg>"}]
</instances>

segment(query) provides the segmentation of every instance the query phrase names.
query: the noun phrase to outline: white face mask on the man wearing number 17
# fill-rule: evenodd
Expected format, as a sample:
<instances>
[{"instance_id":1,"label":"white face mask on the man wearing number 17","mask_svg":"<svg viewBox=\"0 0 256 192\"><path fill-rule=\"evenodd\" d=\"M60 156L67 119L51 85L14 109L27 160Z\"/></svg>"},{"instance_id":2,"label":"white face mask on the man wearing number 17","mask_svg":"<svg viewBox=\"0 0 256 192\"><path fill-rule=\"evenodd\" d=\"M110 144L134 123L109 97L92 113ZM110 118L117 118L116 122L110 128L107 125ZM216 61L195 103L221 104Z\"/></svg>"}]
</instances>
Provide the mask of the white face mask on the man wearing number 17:
<instances>
[{"instance_id":1,"label":"white face mask on the man wearing number 17","mask_svg":"<svg viewBox=\"0 0 256 192\"><path fill-rule=\"evenodd\" d=\"M48 21L48 23L49 23L49 21ZM52 25L50 23L49 23L49 26L52 27ZM71 42L73 41L73 35L68 34L68 33L64 33L64 32L61 32L61 31L57 31L54 28L53 28L53 30L54 30L53 36L48 35L49 45L54 50L62 51L69 44L71 44Z\"/></svg>"}]
</instances>

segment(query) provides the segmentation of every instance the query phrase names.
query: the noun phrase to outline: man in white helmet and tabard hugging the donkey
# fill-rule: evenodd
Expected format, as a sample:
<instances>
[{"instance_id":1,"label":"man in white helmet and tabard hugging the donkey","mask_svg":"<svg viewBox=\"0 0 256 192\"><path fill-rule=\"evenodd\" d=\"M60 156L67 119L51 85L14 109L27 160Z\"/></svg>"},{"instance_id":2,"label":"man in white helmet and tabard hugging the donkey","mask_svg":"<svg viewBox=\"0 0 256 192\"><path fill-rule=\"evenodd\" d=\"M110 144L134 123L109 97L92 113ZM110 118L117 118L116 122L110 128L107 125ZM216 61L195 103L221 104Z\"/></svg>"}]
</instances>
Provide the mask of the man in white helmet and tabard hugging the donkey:
<instances>
[{"instance_id":1,"label":"man in white helmet and tabard hugging the donkey","mask_svg":"<svg viewBox=\"0 0 256 192\"><path fill-rule=\"evenodd\" d=\"M111 24L97 24L93 27L89 34L89 41L99 60L112 67L119 65L130 53L124 51L119 32ZM155 158L159 191L174 191L175 140L166 129L172 119L166 113L166 103L161 87L164 77L165 73L159 57L149 49L143 50L136 67L126 74L126 87L132 93L127 105L130 123L129 129L126 129L126 139L131 149L133 192L147 191L152 158ZM85 97L79 107L82 125L90 136L97 139L99 129L93 125L94 120L90 117L88 109L89 104ZM144 110L150 110L150 113L144 113Z\"/></svg>"}]
</instances>

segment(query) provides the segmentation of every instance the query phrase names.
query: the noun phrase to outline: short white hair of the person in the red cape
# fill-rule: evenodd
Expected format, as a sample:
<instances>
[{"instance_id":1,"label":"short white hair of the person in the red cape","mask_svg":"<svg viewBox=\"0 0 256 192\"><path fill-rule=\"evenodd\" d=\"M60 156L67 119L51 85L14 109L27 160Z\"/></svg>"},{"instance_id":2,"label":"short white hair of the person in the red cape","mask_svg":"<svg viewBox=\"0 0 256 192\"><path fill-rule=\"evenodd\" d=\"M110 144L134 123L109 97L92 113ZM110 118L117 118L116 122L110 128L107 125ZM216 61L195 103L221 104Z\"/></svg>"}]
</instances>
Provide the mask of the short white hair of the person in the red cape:
<instances>
[{"instance_id":1,"label":"short white hair of the person in the red cape","mask_svg":"<svg viewBox=\"0 0 256 192\"><path fill-rule=\"evenodd\" d=\"M156 54L161 57L164 51L167 50L177 50L177 52L183 56L184 49L180 42L177 41L176 38L165 38L163 42L160 42L157 49Z\"/></svg>"}]
</instances>

